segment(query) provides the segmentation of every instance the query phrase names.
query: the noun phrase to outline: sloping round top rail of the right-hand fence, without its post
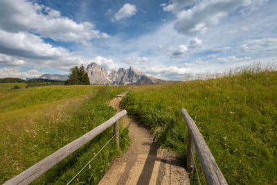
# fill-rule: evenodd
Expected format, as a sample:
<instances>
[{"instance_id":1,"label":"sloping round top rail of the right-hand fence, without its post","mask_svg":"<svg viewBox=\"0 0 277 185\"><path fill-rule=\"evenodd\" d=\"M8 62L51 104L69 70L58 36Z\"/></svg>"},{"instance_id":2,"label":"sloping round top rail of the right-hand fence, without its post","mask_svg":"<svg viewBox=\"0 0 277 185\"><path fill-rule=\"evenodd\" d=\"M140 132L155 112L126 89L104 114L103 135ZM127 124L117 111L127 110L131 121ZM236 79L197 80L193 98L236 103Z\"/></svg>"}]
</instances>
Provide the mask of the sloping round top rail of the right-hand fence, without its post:
<instances>
[{"instance_id":1,"label":"sloping round top rail of the right-hand fence, without its post","mask_svg":"<svg viewBox=\"0 0 277 185\"><path fill-rule=\"evenodd\" d=\"M186 109L181 109L181 114L186 120L188 131L190 132L195 143L197 155L199 157L207 184L227 184L226 179L222 175L220 168L217 166L215 158L213 157L211 150L208 148L202 134L195 125L195 122L190 117L188 112L186 112Z\"/></svg>"}]
</instances>

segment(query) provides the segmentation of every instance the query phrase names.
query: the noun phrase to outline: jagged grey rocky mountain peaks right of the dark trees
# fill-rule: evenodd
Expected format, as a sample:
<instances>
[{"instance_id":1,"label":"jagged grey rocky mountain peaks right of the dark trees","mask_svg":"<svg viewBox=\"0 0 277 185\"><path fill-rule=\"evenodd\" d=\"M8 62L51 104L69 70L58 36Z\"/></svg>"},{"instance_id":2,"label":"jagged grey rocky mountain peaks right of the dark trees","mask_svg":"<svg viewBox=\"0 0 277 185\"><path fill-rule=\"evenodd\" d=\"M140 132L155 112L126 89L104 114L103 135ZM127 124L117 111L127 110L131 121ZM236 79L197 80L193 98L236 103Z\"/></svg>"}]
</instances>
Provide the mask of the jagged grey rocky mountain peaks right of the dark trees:
<instances>
[{"instance_id":1,"label":"jagged grey rocky mountain peaks right of the dark trees","mask_svg":"<svg viewBox=\"0 0 277 185\"><path fill-rule=\"evenodd\" d=\"M91 85L139 85L141 83L155 84L158 79L141 73L134 67L112 70L109 75L105 68L99 67L95 62L87 66L87 73Z\"/></svg>"}]
</instances>

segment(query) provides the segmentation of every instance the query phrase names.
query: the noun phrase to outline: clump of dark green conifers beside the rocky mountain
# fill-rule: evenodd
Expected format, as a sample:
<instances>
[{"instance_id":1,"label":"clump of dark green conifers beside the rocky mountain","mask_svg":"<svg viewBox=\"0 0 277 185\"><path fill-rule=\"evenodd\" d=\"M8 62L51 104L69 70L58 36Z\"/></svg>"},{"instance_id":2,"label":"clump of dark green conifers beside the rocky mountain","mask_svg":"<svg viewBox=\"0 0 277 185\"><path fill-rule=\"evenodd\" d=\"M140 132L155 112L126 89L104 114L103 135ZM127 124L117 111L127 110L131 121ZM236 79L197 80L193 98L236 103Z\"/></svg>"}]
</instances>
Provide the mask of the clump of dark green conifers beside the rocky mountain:
<instances>
[{"instance_id":1,"label":"clump of dark green conifers beside the rocky mountain","mask_svg":"<svg viewBox=\"0 0 277 185\"><path fill-rule=\"evenodd\" d=\"M89 76L87 71L84 69L84 65L80 67L75 66L70 69L71 74L69 75L69 80L65 81L65 85L89 85Z\"/></svg>"}]
</instances>

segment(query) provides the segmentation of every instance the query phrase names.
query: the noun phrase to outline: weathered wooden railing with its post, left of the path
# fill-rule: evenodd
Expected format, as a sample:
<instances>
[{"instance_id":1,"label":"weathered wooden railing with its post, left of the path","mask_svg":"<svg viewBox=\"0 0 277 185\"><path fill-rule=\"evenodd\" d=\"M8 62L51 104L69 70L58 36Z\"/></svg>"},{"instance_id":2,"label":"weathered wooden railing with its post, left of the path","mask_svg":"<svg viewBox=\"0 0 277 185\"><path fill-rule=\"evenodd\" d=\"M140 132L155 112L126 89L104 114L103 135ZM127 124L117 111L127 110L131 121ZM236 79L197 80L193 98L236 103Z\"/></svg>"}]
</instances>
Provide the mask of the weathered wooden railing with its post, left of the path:
<instances>
[{"instance_id":1,"label":"weathered wooden railing with its post, left of the path","mask_svg":"<svg viewBox=\"0 0 277 185\"><path fill-rule=\"evenodd\" d=\"M58 164L62 159L66 158L67 156L71 155L75 150L78 150L86 143L91 141L91 139L98 136L98 134L105 131L111 125L114 125L114 134L116 138L116 148L119 150L119 123L118 120L127 114L126 110L123 110L116 114L116 116L110 118L105 123L102 123L98 127L95 127L93 130L87 132L80 138L72 141L71 143L67 144L60 150L57 150L53 154L49 155L48 157L42 159L37 164L31 166L24 172L20 173L19 175L13 177L5 185L8 184L30 184L35 179L46 173L46 171L50 170L53 166Z\"/></svg>"}]
</instances>

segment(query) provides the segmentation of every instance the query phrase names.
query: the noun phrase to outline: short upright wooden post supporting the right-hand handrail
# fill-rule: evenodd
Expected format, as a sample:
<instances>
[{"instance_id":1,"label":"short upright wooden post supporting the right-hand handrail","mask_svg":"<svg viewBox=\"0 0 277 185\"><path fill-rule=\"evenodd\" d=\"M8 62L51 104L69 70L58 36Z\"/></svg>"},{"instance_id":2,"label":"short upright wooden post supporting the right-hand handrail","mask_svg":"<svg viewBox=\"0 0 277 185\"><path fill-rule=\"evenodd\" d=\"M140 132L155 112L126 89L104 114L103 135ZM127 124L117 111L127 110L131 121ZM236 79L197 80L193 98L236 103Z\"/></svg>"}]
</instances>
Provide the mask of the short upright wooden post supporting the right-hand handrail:
<instances>
[{"instance_id":1,"label":"short upright wooden post supporting the right-hand handrail","mask_svg":"<svg viewBox=\"0 0 277 185\"><path fill-rule=\"evenodd\" d=\"M193 151L193 153L192 153ZM188 173L193 173L195 170L195 166L193 164L193 157L195 155L195 144L193 143L193 138L190 135L190 131L188 130L188 149L186 154L186 166L188 169Z\"/></svg>"}]
</instances>

